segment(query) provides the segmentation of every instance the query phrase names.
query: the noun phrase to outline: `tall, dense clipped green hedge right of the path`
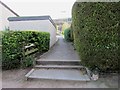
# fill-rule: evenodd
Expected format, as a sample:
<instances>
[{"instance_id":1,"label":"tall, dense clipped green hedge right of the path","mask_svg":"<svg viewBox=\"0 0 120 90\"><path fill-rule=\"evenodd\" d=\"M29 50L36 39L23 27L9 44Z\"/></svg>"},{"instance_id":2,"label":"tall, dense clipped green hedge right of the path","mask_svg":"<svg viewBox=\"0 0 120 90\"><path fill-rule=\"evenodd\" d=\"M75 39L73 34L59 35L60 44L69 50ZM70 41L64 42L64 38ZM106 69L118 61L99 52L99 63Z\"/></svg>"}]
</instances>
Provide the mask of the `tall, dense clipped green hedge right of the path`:
<instances>
[{"instance_id":1,"label":"tall, dense clipped green hedge right of the path","mask_svg":"<svg viewBox=\"0 0 120 90\"><path fill-rule=\"evenodd\" d=\"M120 2L75 2L72 8L74 43L90 69L118 70Z\"/></svg>"}]
</instances>

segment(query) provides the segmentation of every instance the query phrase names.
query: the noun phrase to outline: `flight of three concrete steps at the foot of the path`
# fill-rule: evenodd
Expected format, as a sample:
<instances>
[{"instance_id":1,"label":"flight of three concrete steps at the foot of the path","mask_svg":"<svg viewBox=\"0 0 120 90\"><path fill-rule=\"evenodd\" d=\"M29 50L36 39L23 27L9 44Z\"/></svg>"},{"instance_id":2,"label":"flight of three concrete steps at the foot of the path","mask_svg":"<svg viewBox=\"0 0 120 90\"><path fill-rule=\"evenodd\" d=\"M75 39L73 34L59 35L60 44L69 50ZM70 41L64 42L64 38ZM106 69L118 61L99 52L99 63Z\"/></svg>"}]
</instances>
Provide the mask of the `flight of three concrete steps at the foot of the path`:
<instances>
[{"instance_id":1,"label":"flight of three concrete steps at the foot of the path","mask_svg":"<svg viewBox=\"0 0 120 90\"><path fill-rule=\"evenodd\" d=\"M37 60L35 67L28 72L26 78L90 81L86 68L79 60Z\"/></svg>"}]
</instances>

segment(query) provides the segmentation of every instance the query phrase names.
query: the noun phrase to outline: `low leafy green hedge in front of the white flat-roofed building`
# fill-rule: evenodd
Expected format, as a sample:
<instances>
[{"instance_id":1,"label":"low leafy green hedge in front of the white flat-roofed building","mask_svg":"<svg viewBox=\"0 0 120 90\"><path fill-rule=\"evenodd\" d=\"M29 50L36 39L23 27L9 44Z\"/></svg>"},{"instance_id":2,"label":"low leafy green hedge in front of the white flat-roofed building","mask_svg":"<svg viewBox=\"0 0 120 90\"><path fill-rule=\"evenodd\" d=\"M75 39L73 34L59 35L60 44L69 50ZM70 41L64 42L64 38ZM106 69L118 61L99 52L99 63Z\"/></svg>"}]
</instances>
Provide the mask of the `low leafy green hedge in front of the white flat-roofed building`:
<instances>
[{"instance_id":1,"label":"low leafy green hedge in front of the white flat-roofed building","mask_svg":"<svg viewBox=\"0 0 120 90\"><path fill-rule=\"evenodd\" d=\"M5 31L2 32L2 68L14 69L21 66L23 46L31 43L40 53L49 49L50 34L36 31Z\"/></svg>"}]
</instances>

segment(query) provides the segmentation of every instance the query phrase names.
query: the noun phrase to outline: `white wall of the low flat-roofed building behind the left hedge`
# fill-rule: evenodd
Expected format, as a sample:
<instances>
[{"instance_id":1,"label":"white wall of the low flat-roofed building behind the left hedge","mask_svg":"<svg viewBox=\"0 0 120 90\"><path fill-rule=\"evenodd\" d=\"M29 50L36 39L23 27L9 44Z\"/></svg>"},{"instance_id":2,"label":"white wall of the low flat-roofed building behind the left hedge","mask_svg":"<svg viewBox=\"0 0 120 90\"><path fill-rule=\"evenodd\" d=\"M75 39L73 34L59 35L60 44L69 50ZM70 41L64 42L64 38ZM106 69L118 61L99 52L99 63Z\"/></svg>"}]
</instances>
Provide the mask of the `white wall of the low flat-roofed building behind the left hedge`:
<instances>
[{"instance_id":1,"label":"white wall of the low flat-roofed building behind the left hedge","mask_svg":"<svg viewBox=\"0 0 120 90\"><path fill-rule=\"evenodd\" d=\"M10 21L10 30L39 30L50 33L50 47L56 42L56 28L49 20Z\"/></svg>"}]
</instances>

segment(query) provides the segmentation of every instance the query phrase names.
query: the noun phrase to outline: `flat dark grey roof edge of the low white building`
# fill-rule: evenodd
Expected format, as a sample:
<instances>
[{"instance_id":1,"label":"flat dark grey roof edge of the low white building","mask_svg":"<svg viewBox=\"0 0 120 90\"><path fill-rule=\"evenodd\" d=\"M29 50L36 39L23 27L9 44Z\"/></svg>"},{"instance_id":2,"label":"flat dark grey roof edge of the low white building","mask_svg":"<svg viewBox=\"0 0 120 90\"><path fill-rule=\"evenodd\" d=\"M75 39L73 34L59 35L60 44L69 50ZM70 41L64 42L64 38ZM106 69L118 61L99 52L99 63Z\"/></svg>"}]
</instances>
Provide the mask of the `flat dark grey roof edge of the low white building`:
<instances>
[{"instance_id":1,"label":"flat dark grey roof edge of the low white building","mask_svg":"<svg viewBox=\"0 0 120 90\"><path fill-rule=\"evenodd\" d=\"M25 17L9 17L9 21L31 21L31 20L49 20L55 27L55 23L52 18L48 16L25 16Z\"/></svg>"}]
</instances>

